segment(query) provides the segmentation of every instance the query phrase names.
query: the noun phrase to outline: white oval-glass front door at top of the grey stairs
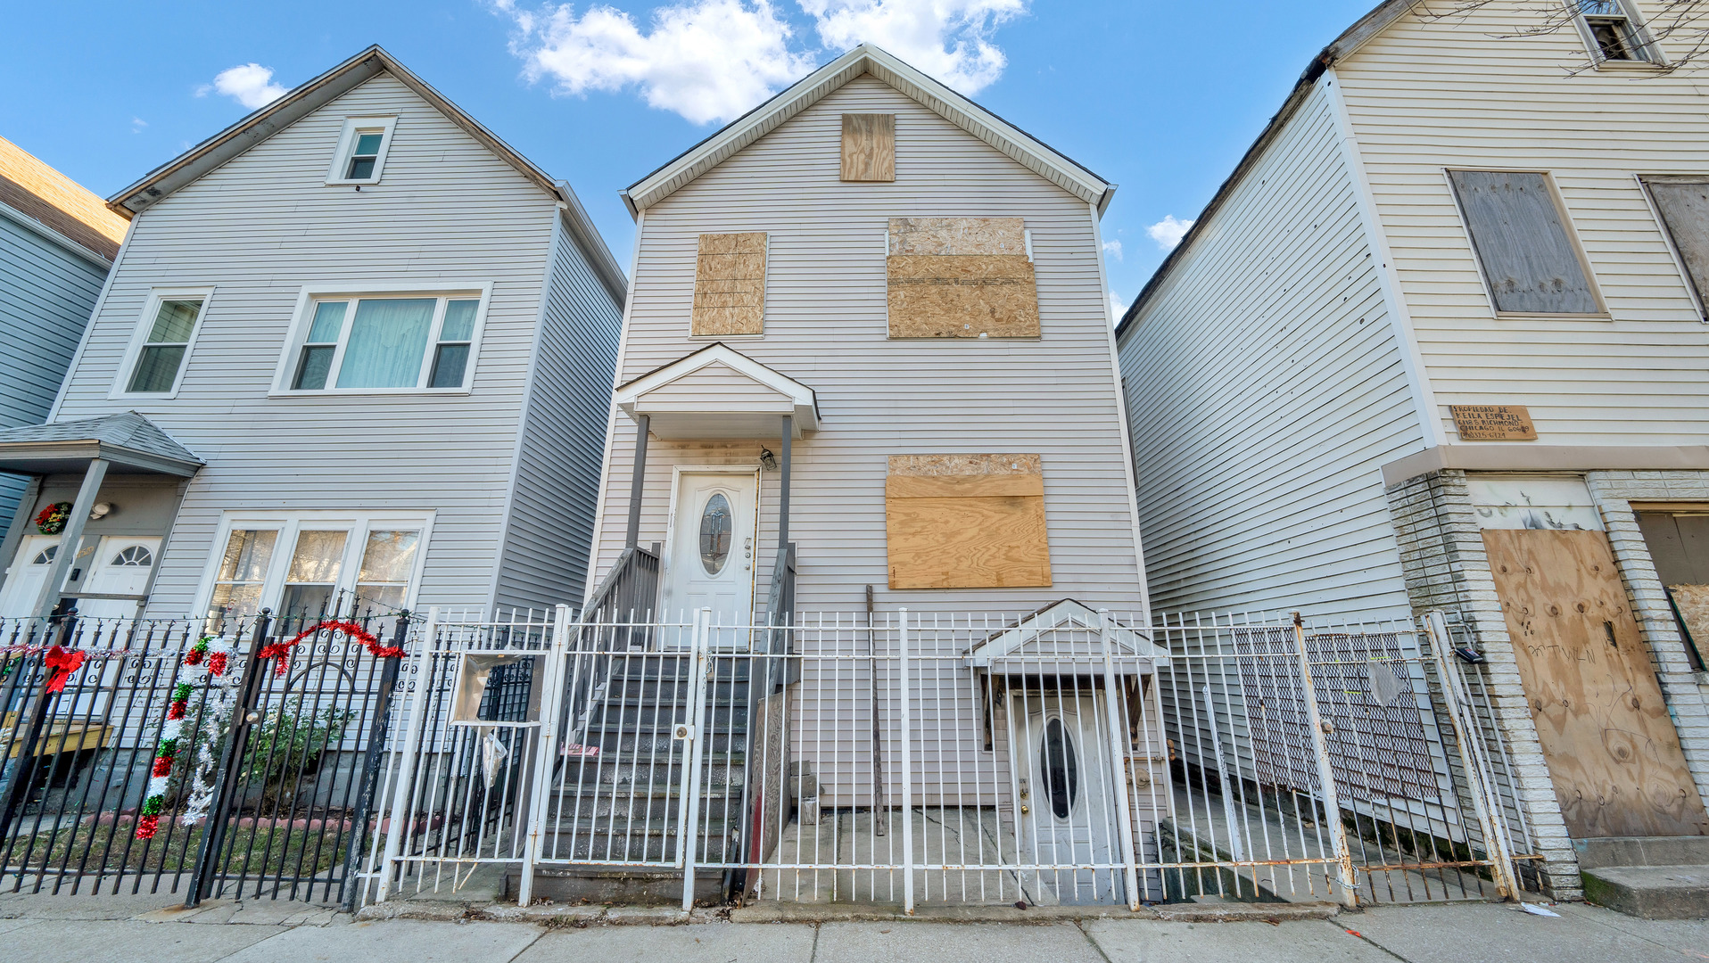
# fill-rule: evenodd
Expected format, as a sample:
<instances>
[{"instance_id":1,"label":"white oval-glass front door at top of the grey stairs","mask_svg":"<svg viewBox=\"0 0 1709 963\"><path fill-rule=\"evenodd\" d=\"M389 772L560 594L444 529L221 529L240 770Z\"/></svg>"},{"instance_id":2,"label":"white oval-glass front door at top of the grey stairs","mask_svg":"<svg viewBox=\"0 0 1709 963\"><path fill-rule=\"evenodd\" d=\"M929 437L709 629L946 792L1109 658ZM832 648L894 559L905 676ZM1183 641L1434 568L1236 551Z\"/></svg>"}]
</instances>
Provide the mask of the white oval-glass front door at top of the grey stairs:
<instances>
[{"instance_id":1,"label":"white oval-glass front door at top of the grey stairs","mask_svg":"<svg viewBox=\"0 0 1709 963\"><path fill-rule=\"evenodd\" d=\"M667 620L694 620L713 610L713 625L749 625L754 615L754 555L759 526L759 473L677 471L670 536L665 546L663 594ZM687 644L687 633L668 642ZM733 639L714 639L730 644Z\"/></svg>"}]
</instances>

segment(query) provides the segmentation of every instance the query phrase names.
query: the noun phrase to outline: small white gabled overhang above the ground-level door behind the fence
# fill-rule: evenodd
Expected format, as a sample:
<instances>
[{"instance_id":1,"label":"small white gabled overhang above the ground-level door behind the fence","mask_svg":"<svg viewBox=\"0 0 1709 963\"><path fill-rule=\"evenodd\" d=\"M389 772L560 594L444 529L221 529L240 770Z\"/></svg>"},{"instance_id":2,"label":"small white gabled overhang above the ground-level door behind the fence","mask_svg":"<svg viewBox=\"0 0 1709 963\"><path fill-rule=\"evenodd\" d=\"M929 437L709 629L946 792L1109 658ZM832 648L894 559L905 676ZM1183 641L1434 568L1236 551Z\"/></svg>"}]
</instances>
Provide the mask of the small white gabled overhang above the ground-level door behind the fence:
<instances>
[{"instance_id":1,"label":"small white gabled overhang above the ground-level door behind the fence","mask_svg":"<svg viewBox=\"0 0 1709 963\"><path fill-rule=\"evenodd\" d=\"M1106 635L1107 666L1118 676L1150 674L1159 661L1169 659L1147 632L1114 620L1106 627L1104 615L1061 599L969 649L966 664L1003 676L1099 676L1106 669Z\"/></svg>"}]
</instances>

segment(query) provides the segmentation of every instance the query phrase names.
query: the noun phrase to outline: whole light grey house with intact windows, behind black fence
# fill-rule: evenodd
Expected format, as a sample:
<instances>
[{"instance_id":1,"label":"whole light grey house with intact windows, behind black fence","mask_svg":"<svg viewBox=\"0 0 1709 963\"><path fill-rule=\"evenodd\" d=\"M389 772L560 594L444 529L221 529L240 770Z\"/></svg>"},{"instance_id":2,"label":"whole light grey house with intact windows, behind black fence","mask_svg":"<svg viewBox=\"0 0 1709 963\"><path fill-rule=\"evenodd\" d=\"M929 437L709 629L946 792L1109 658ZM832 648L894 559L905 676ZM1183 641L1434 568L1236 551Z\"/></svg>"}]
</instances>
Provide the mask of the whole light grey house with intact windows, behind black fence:
<instances>
[{"instance_id":1,"label":"whole light grey house with intact windows, behind black fence","mask_svg":"<svg viewBox=\"0 0 1709 963\"><path fill-rule=\"evenodd\" d=\"M566 183L376 46L109 205L0 615L579 598L625 278Z\"/></svg>"}]
</instances>

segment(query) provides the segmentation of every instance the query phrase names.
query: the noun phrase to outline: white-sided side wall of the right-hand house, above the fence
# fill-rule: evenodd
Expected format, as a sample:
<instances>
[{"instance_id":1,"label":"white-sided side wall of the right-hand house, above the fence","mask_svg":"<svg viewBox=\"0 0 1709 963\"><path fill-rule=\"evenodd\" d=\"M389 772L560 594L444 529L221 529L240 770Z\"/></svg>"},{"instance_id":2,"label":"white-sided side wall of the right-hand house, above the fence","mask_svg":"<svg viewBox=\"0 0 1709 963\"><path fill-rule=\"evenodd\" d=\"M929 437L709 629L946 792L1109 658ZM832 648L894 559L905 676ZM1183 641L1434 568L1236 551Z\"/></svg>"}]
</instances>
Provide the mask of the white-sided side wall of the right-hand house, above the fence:
<instances>
[{"instance_id":1,"label":"white-sided side wall of the right-hand house, above the fence","mask_svg":"<svg viewBox=\"0 0 1709 963\"><path fill-rule=\"evenodd\" d=\"M1403 347L1319 84L1123 331L1157 611L1407 611Z\"/></svg>"}]
</instances>

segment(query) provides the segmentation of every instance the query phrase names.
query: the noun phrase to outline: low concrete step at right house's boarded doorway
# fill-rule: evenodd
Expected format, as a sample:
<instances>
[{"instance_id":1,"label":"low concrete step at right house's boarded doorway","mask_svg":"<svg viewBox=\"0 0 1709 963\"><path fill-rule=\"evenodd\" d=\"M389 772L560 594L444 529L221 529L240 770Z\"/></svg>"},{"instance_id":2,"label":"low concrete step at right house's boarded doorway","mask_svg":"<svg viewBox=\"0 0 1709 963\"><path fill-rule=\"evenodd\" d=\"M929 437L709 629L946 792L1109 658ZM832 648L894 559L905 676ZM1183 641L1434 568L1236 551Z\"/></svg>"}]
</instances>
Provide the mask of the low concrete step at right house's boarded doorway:
<instances>
[{"instance_id":1,"label":"low concrete step at right house's boarded doorway","mask_svg":"<svg viewBox=\"0 0 1709 963\"><path fill-rule=\"evenodd\" d=\"M1584 898L1651 920L1709 919L1709 837L1574 840Z\"/></svg>"}]
</instances>

